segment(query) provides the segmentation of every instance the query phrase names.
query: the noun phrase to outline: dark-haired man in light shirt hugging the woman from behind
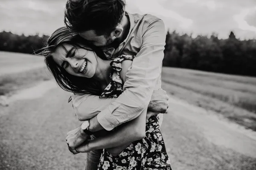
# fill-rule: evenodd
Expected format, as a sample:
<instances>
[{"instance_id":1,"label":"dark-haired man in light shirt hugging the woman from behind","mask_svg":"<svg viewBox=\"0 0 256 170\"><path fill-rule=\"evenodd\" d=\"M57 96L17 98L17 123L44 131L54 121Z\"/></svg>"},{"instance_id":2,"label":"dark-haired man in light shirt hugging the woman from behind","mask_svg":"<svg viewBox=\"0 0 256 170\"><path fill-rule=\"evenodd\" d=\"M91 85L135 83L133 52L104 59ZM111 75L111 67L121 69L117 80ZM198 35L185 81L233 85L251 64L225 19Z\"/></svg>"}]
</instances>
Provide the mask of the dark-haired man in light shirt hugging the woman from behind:
<instances>
[{"instance_id":1,"label":"dark-haired man in light shirt hugging the woman from behind","mask_svg":"<svg viewBox=\"0 0 256 170\"><path fill-rule=\"evenodd\" d=\"M89 139L90 133L112 130L135 119L147 107L159 112L157 105L150 107L149 104L154 89L161 87L166 31L163 21L157 17L125 12L124 0L68 0L65 24L88 42L102 47L108 57L136 55L126 74L125 91L116 100L102 101L92 95L73 96L76 114L100 112L89 122L85 121L86 129L78 127L68 133L67 144L70 151L76 154L83 152L81 144ZM165 107L162 112L166 111L168 104ZM90 162L87 161L87 164ZM87 169L93 168L87 166Z\"/></svg>"}]
</instances>

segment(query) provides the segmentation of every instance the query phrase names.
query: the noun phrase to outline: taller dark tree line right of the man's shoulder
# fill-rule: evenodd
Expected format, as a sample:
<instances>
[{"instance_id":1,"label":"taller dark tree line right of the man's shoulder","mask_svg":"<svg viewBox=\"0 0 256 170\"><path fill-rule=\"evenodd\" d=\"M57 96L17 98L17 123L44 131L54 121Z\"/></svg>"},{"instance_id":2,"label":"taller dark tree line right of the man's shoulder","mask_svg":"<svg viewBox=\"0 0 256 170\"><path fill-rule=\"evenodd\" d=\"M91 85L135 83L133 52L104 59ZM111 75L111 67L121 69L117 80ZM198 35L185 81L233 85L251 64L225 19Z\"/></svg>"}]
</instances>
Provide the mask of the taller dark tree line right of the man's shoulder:
<instances>
[{"instance_id":1,"label":"taller dark tree line right of the man's shoulder","mask_svg":"<svg viewBox=\"0 0 256 170\"><path fill-rule=\"evenodd\" d=\"M256 76L256 40L239 40L232 31L227 39L168 31L164 54L164 66Z\"/></svg>"}]
</instances>

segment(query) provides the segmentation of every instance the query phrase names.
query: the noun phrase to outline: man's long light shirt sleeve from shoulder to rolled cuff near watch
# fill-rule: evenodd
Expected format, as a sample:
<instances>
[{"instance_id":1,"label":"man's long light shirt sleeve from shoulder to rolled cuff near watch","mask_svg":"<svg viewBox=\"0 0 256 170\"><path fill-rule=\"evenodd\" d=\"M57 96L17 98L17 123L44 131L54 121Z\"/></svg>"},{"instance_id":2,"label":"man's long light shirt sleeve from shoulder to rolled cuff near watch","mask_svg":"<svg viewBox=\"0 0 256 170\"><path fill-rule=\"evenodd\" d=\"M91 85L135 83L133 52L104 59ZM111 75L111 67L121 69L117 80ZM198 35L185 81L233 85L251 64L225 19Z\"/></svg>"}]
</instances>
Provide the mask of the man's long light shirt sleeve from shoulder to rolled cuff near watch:
<instances>
[{"instance_id":1,"label":"man's long light shirt sleeve from shoulder to rolled cuff near watch","mask_svg":"<svg viewBox=\"0 0 256 170\"><path fill-rule=\"evenodd\" d=\"M97 115L106 130L135 119L147 108L159 81L166 30L162 20L148 23L143 30L143 44L126 74L124 92Z\"/></svg>"}]
</instances>

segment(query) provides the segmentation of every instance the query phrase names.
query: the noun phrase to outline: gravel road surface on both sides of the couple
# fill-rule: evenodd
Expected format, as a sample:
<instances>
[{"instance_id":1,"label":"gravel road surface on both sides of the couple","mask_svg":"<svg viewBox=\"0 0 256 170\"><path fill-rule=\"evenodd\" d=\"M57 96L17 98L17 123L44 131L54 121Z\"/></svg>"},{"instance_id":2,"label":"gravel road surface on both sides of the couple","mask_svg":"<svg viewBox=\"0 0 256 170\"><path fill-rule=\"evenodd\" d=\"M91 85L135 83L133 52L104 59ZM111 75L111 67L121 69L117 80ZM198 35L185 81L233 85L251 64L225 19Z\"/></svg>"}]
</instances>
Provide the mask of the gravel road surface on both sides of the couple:
<instances>
[{"instance_id":1,"label":"gravel road surface on both sides of the couple","mask_svg":"<svg viewBox=\"0 0 256 170\"><path fill-rule=\"evenodd\" d=\"M73 156L65 143L79 124L67 104L70 94L44 83L0 108L1 170L84 169L85 154ZM173 96L168 112L161 130L174 170L256 169L254 132Z\"/></svg>"}]
</instances>

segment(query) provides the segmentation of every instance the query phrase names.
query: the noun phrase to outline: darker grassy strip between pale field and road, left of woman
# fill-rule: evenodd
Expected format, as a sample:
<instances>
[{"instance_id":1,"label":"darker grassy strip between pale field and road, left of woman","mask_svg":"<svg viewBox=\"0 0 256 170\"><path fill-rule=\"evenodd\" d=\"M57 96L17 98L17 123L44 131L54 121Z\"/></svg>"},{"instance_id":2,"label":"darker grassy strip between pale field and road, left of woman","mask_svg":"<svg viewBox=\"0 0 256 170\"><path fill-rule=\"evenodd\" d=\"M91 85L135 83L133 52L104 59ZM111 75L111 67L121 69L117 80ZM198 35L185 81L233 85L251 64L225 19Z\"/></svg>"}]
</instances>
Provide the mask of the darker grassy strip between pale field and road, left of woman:
<instances>
[{"instance_id":1,"label":"darker grassy strip between pale field and road, left of woman","mask_svg":"<svg viewBox=\"0 0 256 170\"><path fill-rule=\"evenodd\" d=\"M15 74L0 76L0 95L9 95L13 92L32 87L35 83L52 79L46 68L38 68Z\"/></svg>"}]
</instances>

